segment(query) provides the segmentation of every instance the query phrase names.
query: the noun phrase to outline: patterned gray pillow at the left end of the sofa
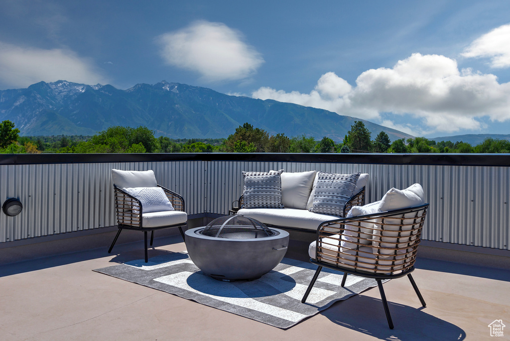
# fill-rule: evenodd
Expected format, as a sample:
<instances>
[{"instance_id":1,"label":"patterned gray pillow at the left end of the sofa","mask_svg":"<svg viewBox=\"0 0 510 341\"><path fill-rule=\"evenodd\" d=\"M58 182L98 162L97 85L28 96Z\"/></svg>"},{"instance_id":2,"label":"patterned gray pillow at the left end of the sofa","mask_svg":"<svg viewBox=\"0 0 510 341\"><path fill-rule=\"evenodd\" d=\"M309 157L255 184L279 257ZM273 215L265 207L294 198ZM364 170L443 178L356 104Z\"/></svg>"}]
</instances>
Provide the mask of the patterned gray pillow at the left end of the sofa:
<instances>
[{"instance_id":1,"label":"patterned gray pillow at the left end of the sofa","mask_svg":"<svg viewBox=\"0 0 510 341\"><path fill-rule=\"evenodd\" d=\"M283 169L269 172L243 172L242 208L284 208L280 176L283 172Z\"/></svg>"}]
</instances>

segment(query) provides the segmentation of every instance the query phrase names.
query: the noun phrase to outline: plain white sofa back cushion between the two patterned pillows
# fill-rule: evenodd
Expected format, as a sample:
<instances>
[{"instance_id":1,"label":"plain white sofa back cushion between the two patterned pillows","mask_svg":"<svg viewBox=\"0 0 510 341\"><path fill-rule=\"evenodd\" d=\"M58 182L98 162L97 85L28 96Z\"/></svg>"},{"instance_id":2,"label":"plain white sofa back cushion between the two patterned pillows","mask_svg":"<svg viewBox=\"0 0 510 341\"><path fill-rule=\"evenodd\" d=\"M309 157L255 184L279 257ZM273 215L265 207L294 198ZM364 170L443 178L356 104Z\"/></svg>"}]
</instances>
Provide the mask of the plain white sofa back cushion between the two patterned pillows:
<instances>
[{"instance_id":1,"label":"plain white sofa back cushion between the two patterned pillows","mask_svg":"<svg viewBox=\"0 0 510 341\"><path fill-rule=\"evenodd\" d=\"M307 208L316 173L316 171L282 173L282 203L286 208Z\"/></svg>"}]
</instances>

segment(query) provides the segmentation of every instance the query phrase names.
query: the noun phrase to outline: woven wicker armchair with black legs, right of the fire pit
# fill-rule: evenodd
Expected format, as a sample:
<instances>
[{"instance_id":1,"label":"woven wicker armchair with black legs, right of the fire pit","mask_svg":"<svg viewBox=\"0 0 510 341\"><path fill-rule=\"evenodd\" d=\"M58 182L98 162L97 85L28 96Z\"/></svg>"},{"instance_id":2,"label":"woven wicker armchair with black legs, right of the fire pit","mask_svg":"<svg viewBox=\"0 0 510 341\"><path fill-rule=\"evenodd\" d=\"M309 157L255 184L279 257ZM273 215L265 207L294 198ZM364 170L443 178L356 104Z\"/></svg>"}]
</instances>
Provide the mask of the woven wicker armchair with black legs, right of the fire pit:
<instances>
[{"instance_id":1,"label":"woven wicker armchair with black legs, right of the fire pit","mask_svg":"<svg viewBox=\"0 0 510 341\"><path fill-rule=\"evenodd\" d=\"M315 247L315 256L310 261L319 267L301 302L306 302L322 268L326 267L344 273L342 286L347 274L374 278L391 329L393 322L382 288L383 280L407 276L425 306L411 272L414 271L427 208L428 204L424 204L320 224L310 251L312 253Z\"/></svg>"}]
</instances>

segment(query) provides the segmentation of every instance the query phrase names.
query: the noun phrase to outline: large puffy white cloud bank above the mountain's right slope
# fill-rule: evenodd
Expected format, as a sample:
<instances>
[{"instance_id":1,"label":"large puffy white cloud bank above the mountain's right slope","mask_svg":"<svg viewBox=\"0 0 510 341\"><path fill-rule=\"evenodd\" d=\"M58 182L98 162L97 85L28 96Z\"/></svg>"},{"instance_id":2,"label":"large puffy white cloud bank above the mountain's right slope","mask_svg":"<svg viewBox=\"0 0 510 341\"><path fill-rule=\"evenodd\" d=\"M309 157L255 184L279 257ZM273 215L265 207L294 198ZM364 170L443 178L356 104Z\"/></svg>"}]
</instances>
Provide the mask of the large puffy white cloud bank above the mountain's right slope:
<instances>
[{"instance_id":1,"label":"large puffy white cloud bank above the mountain's right slope","mask_svg":"<svg viewBox=\"0 0 510 341\"><path fill-rule=\"evenodd\" d=\"M438 55L413 54L393 68L367 70L356 79L355 87L328 72L309 94L263 87L252 97L387 123L418 136L480 129L481 119L487 117L510 120L510 83L499 84L493 74L458 70L455 60ZM393 114L391 120L388 113ZM410 117L420 125L405 123L412 121Z\"/></svg>"}]
</instances>

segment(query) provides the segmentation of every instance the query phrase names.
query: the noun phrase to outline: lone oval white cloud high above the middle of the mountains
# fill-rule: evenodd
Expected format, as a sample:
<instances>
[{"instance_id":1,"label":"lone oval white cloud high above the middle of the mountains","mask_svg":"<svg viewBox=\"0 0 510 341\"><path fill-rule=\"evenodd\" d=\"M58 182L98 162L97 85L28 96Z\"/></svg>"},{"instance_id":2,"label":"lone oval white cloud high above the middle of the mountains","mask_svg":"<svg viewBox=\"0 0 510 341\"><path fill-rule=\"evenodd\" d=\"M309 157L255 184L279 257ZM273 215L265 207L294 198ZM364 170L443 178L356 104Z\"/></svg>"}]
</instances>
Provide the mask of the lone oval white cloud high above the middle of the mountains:
<instances>
[{"instance_id":1,"label":"lone oval white cloud high above the middle of the mountains","mask_svg":"<svg viewBox=\"0 0 510 341\"><path fill-rule=\"evenodd\" d=\"M166 63L196 71L206 81L243 80L264 63L241 33L219 22L196 21L159 36L157 41Z\"/></svg>"}]
</instances>

